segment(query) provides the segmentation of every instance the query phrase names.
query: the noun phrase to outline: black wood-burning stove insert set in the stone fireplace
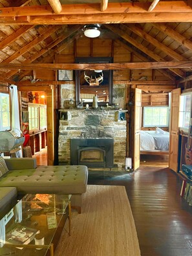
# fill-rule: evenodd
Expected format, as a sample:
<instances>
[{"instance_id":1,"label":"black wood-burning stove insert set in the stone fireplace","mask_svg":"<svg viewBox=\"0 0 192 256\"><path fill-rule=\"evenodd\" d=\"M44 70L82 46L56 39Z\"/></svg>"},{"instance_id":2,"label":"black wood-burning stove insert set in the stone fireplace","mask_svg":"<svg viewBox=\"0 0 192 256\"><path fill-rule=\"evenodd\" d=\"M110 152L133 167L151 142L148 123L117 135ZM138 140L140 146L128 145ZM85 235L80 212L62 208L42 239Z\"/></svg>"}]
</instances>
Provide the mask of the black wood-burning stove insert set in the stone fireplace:
<instances>
[{"instance_id":1,"label":"black wood-burning stove insert set in the stone fireplace","mask_svg":"<svg viewBox=\"0 0 192 256\"><path fill-rule=\"evenodd\" d=\"M112 138L72 138L70 140L70 164L87 167L113 167Z\"/></svg>"}]
</instances>

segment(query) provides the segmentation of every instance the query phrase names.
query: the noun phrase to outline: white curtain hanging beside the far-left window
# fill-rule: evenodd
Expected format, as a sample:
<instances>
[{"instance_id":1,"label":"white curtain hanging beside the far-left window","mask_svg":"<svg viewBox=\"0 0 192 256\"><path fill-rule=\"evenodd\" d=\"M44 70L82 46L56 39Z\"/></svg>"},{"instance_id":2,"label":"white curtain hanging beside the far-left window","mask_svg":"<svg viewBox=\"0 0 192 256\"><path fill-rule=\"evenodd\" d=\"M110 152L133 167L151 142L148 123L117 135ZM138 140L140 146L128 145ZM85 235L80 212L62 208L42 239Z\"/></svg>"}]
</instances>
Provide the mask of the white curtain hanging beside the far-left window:
<instances>
[{"instance_id":1,"label":"white curtain hanging beside the far-left window","mask_svg":"<svg viewBox=\"0 0 192 256\"><path fill-rule=\"evenodd\" d=\"M19 100L17 94L17 86L10 86L10 96L12 102L12 130L17 134L17 136L21 137L21 129L20 129L20 121L19 121ZM21 147L21 146L20 146ZM22 157L22 151L19 150L18 154Z\"/></svg>"}]
</instances>

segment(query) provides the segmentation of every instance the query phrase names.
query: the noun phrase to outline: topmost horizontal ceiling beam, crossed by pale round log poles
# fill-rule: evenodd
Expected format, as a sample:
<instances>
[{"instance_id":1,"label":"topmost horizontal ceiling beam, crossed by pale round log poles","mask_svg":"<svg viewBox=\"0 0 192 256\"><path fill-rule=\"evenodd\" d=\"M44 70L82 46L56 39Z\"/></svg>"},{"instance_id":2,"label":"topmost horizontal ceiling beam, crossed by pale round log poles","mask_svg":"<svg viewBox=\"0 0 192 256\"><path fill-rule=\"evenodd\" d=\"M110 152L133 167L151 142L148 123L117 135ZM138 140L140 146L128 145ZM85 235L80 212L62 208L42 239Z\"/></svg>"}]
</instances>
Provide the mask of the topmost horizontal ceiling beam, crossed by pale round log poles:
<instances>
[{"instance_id":1,"label":"topmost horizontal ceiling beam, crossed by pale round log poles","mask_svg":"<svg viewBox=\"0 0 192 256\"><path fill-rule=\"evenodd\" d=\"M50 0L49 0L50 1ZM54 0L52 0L54 1ZM103 0L107 2L107 0ZM149 14L150 3L108 3L105 14ZM102 14L100 4L77 4L77 5L61 5L60 15L76 15L76 14ZM192 12L191 7L186 1L162 1L156 6L155 13L188 13ZM151 13L152 13L151 12ZM21 17L21 16L52 16L52 8L49 5L35 5L24 7L4 7L0 8L0 17ZM104 15L104 14L103 14ZM57 16L57 15L55 15Z\"/></svg>"}]
</instances>

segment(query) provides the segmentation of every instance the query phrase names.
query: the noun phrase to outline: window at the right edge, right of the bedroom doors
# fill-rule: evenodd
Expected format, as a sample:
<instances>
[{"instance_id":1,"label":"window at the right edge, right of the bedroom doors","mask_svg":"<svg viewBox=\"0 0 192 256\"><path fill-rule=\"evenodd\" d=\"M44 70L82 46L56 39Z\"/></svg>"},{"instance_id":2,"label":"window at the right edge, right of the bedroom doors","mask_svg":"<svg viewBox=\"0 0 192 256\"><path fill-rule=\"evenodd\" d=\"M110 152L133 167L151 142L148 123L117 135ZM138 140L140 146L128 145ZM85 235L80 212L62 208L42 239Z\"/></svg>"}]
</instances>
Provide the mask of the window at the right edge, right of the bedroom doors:
<instances>
[{"instance_id":1,"label":"window at the right edge, right of the bedroom doors","mask_svg":"<svg viewBox=\"0 0 192 256\"><path fill-rule=\"evenodd\" d=\"M179 107L179 127L184 131L188 131L191 118L192 92L182 94L180 96Z\"/></svg>"}]
</instances>

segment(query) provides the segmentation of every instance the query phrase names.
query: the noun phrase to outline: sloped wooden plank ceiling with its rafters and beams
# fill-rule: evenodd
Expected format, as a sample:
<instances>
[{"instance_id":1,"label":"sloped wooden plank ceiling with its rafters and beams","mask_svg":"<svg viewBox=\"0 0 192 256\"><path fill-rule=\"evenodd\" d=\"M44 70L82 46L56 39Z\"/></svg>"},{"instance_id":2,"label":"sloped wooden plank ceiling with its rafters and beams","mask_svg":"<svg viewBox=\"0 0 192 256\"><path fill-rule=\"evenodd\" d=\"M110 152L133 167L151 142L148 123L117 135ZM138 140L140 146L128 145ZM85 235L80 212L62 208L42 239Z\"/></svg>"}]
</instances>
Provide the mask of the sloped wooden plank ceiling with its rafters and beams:
<instances>
[{"instance_id":1,"label":"sloped wooden plank ceiling with its rafters and beams","mask_svg":"<svg viewBox=\"0 0 192 256\"><path fill-rule=\"evenodd\" d=\"M191 1L0 0L1 84L28 74L36 78L34 70L46 68L41 63L52 70L89 69L52 59L92 23L101 25L101 38L121 43L144 61L102 69L150 68L161 70L167 80L192 79Z\"/></svg>"}]
</instances>

